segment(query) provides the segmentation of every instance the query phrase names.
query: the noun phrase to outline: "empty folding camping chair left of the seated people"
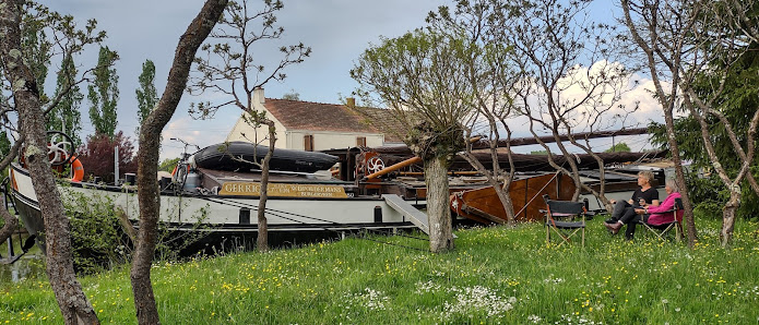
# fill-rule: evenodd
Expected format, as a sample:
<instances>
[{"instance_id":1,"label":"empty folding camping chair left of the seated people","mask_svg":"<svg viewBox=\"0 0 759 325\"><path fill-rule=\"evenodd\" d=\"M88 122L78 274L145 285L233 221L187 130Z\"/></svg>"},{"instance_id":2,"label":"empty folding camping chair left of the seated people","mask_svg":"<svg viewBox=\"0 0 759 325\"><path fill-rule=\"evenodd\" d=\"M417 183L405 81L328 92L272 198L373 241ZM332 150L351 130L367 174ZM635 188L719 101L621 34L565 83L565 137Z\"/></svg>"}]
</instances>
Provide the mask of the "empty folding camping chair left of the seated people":
<instances>
[{"instance_id":1,"label":"empty folding camping chair left of the seated people","mask_svg":"<svg viewBox=\"0 0 759 325\"><path fill-rule=\"evenodd\" d=\"M582 246L585 246L585 205L582 202L555 201L548 194L543 195L546 202L546 244L550 243L550 231L561 238L562 243L570 243L570 238L578 232L582 236ZM580 218L579 221L576 219Z\"/></svg>"}]
</instances>

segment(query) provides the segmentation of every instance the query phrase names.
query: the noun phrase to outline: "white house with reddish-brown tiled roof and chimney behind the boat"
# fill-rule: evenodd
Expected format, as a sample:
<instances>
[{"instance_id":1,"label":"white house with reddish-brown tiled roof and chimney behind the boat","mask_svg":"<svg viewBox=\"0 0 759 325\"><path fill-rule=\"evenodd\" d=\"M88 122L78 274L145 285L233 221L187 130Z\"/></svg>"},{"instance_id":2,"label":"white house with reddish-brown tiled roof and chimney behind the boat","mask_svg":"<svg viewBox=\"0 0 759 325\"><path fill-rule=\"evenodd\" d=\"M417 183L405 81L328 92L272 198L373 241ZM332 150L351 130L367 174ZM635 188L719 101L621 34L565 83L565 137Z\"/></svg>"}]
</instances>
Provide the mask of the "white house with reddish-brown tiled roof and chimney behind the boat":
<instances>
[{"instance_id":1,"label":"white house with reddish-brown tiled roof and chimney behind the boat","mask_svg":"<svg viewBox=\"0 0 759 325\"><path fill-rule=\"evenodd\" d=\"M253 92L252 103L253 110L264 111L274 121L278 148L324 151L401 143L393 132L378 130L345 105L265 98L262 88ZM355 106L355 100L348 98L348 105ZM370 110L378 116L390 113L384 109ZM253 128L240 117L226 140L261 142L268 135L265 128ZM261 143L266 145L268 141Z\"/></svg>"}]
</instances>

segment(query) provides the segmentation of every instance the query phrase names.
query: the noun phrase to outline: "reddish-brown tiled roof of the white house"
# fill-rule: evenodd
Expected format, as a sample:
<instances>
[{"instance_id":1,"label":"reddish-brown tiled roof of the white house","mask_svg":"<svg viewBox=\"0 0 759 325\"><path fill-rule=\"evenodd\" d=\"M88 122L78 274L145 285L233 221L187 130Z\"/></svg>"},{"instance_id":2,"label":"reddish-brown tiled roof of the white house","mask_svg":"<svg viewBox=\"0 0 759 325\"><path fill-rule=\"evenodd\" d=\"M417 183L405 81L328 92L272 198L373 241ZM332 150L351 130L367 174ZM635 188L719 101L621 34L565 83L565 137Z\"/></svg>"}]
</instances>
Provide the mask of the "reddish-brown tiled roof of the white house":
<instances>
[{"instance_id":1,"label":"reddish-brown tiled roof of the white house","mask_svg":"<svg viewBox=\"0 0 759 325\"><path fill-rule=\"evenodd\" d=\"M386 129L381 128L382 124L368 123L366 117L344 105L266 98L263 106L285 128L290 130L383 133L386 142L400 142L400 139L393 134L396 132L382 131ZM388 119L381 118L386 113L386 109L372 108L370 110L379 111L376 112L378 119L387 123Z\"/></svg>"}]
</instances>

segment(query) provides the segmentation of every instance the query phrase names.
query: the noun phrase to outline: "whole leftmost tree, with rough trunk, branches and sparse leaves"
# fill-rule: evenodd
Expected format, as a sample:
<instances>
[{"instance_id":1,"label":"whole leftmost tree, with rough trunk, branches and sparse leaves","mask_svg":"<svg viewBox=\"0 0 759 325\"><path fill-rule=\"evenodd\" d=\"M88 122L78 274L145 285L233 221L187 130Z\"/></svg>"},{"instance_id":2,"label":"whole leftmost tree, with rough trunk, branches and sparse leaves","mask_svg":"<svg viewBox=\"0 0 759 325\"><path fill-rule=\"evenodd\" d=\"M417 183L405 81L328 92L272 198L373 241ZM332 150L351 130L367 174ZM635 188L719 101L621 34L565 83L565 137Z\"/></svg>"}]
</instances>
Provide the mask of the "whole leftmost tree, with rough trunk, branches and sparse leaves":
<instances>
[{"instance_id":1,"label":"whole leftmost tree, with rough trunk, branches and sparse leaves","mask_svg":"<svg viewBox=\"0 0 759 325\"><path fill-rule=\"evenodd\" d=\"M26 169L29 171L45 222L46 270L63 321L67 324L98 324L97 315L74 274L69 219L63 213L63 204L46 154L44 113L55 108L60 98L48 101L41 95L40 82L37 81L40 74L35 73L34 67L45 60L33 62L29 59L29 49L22 46L24 33L22 27L25 26L22 16L38 20L39 26L47 31L45 35L50 35L48 37L55 39L60 50L57 53L63 56L81 52L85 46L102 41L105 33L96 29L94 20L87 21L86 26L79 29L72 16L50 12L47 8L31 1L0 0L1 84L2 91L11 93L13 98L12 103L2 100L2 116L4 118L7 113L15 112L20 124L17 129L20 136L11 155L2 160L1 167L4 168L7 164L10 164L10 158L24 142ZM0 208L0 213L7 219L9 214L4 207ZM2 236L4 234L0 233L0 237Z\"/></svg>"}]
</instances>

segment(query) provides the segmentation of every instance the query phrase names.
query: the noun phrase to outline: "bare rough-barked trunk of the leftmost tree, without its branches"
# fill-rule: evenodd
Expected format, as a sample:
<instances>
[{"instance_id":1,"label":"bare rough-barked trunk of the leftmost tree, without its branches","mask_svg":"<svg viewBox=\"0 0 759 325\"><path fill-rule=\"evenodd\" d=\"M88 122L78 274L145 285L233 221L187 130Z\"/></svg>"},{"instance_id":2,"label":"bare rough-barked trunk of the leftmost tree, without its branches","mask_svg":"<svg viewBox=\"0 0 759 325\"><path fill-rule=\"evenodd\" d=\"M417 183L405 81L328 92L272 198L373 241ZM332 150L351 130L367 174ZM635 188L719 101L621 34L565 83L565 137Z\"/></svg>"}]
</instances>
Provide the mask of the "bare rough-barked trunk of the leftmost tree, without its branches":
<instances>
[{"instance_id":1,"label":"bare rough-barked trunk of the leftmost tree, without its branches","mask_svg":"<svg viewBox=\"0 0 759 325\"><path fill-rule=\"evenodd\" d=\"M69 219L47 158L45 115L39 89L21 52L21 14L24 1L0 1L0 60L12 85L21 133L26 137L26 168L45 220L47 276L66 324L99 324L74 274Z\"/></svg>"}]
</instances>

